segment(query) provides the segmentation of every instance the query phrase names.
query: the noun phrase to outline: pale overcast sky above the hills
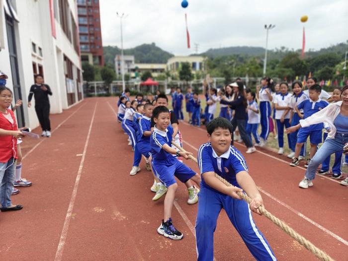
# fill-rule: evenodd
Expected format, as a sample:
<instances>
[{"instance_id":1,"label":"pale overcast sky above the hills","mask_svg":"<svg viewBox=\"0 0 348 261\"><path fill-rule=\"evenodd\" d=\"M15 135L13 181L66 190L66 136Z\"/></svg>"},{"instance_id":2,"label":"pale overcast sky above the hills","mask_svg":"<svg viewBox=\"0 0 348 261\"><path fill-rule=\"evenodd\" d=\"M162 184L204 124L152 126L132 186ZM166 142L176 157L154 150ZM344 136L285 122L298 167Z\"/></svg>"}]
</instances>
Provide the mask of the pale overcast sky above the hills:
<instances>
[{"instance_id":1,"label":"pale overcast sky above the hills","mask_svg":"<svg viewBox=\"0 0 348 261\"><path fill-rule=\"evenodd\" d=\"M302 27L306 30L306 50L329 47L348 40L347 0L99 0L103 46L121 46L120 20L123 19L123 47L143 43L174 55L209 48L265 46L264 24L275 24L269 31L269 49L285 46L302 48ZM184 15L187 13L191 48L186 46ZM300 22L308 15L306 23Z\"/></svg>"}]
</instances>

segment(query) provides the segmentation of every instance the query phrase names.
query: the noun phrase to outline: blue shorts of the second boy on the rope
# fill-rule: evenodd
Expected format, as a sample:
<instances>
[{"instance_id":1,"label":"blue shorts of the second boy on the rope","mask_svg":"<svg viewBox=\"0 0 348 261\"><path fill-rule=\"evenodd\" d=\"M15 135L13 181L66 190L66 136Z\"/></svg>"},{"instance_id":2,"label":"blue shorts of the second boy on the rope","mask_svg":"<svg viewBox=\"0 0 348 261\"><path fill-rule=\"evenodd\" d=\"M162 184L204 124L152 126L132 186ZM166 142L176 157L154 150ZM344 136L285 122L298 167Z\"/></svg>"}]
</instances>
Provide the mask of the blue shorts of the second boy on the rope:
<instances>
[{"instance_id":1,"label":"blue shorts of the second boy on the rope","mask_svg":"<svg viewBox=\"0 0 348 261\"><path fill-rule=\"evenodd\" d=\"M178 160L175 160L174 164L156 163L152 160L151 164L155 175L167 188L176 183L174 176L182 183L185 183L196 175L193 170Z\"/></svg>"}]
</instances>

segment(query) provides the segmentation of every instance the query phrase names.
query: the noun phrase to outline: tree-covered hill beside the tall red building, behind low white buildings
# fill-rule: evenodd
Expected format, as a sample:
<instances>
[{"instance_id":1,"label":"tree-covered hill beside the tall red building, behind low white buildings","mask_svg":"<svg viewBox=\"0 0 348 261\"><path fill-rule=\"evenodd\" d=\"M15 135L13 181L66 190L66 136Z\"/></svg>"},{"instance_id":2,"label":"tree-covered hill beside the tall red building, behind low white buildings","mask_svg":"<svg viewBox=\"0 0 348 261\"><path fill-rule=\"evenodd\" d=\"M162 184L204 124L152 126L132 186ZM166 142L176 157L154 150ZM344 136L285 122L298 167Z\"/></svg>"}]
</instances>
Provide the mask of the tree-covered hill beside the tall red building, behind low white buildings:
<instances>
[{"instance_id":1,"label":"tree-covered hill beside the tall red building, behind low white buildings","mask_svg":"<svg viewBox=\"0 0 348 261\"><path fill-rule=\"evenodd\" d=\"M116 55L121 54L121 49L117 46L104 46L105 64L114 65ZM134 55L136 63L166 64L168 59L173 57L169 52L163 51L155 43L142 44L135 48L124 49L124 55Z\"/></svg>"}]
</instances>

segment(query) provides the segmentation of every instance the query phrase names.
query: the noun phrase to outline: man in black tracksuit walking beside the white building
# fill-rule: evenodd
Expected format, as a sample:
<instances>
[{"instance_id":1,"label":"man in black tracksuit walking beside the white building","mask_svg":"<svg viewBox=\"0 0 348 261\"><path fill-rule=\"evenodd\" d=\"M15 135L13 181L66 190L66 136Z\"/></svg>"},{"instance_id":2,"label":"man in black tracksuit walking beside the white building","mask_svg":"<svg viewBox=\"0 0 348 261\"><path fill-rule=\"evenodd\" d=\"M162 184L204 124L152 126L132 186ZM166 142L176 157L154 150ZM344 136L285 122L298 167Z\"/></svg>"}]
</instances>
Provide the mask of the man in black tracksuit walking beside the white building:
<instances>
[{"instance_id":1,"label":"man in black tracksuit walking beside the white building","mask_svg":"<svg viewBox=\"0 0 348 261\"><path fill-rule=\"evenodd\" d=\"M41 136L51 136L51 123L50 123L50 100L48 95L52 95L50 86L44 84L44 79L41 74L35 75L35 84L31 85L28 96L28 107L31 107L31 99L34 95L35 99L35 112L39 119L42 134Z\"/></svg>"}]
</instances>

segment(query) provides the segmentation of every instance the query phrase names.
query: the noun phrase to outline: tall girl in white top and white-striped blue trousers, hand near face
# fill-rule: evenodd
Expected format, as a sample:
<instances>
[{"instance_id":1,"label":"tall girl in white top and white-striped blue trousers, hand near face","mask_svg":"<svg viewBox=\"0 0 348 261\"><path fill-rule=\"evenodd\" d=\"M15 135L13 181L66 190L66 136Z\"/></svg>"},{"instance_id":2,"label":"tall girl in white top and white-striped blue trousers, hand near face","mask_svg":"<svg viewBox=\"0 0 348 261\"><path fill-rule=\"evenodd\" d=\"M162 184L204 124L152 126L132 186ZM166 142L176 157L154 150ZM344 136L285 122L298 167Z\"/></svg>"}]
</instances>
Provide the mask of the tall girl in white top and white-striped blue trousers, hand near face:
<instances>
[{"instance_id":1,"label":"tall girl in white top and white-striped blue trousers, hand near face","mask_svg":"<svg viewBox=\"0 0 348 261\"><path fill-rule=\"evenodd\" d=\"M269 77L264 77L261 80L261 89L260 86L256 87L257 97L260 101L260 116L261 116L261 142L260 146L263 147L266 145L267 137L269 134L269 117L271 113L270 102L272 101L272 90L273 90L273 81Z\"/></svg>"}]
</instances>

